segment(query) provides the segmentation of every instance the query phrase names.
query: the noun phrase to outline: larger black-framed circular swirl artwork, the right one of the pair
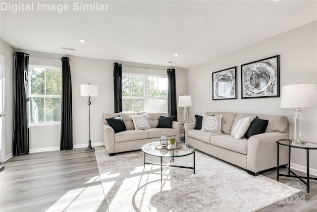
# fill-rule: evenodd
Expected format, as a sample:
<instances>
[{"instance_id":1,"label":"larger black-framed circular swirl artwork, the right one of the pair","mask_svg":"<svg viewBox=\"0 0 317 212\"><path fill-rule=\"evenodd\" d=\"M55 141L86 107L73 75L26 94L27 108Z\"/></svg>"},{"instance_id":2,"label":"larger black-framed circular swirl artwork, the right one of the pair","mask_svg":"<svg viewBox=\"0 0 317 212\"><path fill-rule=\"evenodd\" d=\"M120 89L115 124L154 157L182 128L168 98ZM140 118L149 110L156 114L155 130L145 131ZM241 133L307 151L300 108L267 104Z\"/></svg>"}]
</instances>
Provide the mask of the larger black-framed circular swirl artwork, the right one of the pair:
<instances>
[{"instance_id":1,"label":"larger black-framed circular swirl artwork, the right one of the pair","mask_svg":"<svg viewBox=\"0 0 317 212\"><path fill-rule=\"evenodd\" d=\"M241 65L242 99L279 96L279 55Z\"/></svg>"}]
</instances>

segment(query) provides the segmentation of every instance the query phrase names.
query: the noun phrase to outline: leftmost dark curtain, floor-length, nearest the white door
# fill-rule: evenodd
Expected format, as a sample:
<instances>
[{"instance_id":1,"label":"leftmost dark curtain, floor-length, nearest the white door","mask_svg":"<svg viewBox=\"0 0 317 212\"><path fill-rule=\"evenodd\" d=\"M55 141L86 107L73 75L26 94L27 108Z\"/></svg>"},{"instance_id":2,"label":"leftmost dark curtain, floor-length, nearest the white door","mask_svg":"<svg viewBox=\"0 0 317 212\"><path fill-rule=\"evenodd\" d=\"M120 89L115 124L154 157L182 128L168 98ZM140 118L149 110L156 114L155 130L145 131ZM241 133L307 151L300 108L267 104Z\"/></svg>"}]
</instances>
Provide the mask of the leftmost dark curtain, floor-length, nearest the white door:
<instances>
[{"instance_id":1,"label":"leftmost dark curtain, floor-length, nearest the white door","mask_svg":"<svg viewBox=\"0 0 317 212\"><path fill-rule=\"evenodd\" d=\"M21 155L29 153L29 55L15 52L14 71L14 117L12 154Z\"/></svg>"}]
</instances>

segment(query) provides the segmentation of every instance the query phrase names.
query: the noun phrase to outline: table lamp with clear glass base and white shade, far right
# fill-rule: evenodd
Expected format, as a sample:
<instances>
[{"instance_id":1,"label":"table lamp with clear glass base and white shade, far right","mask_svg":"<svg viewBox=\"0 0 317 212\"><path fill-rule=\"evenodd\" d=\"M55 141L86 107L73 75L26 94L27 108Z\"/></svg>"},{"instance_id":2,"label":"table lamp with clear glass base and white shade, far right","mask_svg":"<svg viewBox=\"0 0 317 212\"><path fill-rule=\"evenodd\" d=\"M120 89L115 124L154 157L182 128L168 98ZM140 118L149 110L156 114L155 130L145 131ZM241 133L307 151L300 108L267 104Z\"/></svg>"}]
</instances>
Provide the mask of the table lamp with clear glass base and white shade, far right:
<instances>
[{"instance_id":1,"label":"table lamp with clear glass base and white shade, far right","mask_svg":"<svg viewBox=\"0 0 317 212\"><path fill-rule=\"evenodd\" d=\"M305 144L305 121L300 108L316 107L316 84L292 84L282 87L281 107L296 108L292 125L292 143Z\"/></svg>"}]
</instances>

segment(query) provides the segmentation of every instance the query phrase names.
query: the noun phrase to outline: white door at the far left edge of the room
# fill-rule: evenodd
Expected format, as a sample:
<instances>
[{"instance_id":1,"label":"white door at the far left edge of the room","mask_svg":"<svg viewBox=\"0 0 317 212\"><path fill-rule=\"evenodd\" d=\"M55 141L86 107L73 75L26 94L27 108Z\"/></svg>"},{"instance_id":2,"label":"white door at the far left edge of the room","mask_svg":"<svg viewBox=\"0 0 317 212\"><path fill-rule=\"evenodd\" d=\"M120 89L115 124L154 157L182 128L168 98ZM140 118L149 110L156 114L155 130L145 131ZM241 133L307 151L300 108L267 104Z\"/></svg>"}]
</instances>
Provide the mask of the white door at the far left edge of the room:
<instances>
[{"instance_id":1,"label":"white door at the far left edge of the room","mask_svg":"<svg viewBox=\"0 0 317 212\"><path fill-rule=\"evenodd\" d=\"M4 57L0 55L0 162L4 161Z\"/></svg>"}]
</instances>

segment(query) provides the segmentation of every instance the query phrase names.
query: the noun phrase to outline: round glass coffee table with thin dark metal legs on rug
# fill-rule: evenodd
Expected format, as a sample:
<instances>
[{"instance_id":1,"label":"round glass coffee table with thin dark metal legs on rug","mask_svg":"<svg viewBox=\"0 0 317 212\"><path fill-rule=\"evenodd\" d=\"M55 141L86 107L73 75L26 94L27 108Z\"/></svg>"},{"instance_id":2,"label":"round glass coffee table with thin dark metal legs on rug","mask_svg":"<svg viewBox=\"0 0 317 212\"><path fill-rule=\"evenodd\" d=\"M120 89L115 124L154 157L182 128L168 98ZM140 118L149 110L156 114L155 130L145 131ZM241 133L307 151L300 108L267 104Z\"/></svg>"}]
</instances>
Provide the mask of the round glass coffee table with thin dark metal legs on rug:
<instances>
[{"instance_id":1,"label":"round glass coffee table with thin dark metal legs on rug","mask_svg":"<svg viewBox=\"0 0 317 212\"><path fill-rule=\"evenodd\" d=\"M195 147L192 145L189 145L187 143L178 143L181 145L180 148L177 149L158 149L157 146L159 146L160 142L153 142L148 143L142 146L142 151L144 152L144 160L143 165L145 168L145 164L152 164L152 165L160 165L160 183L162 183L162 177L165 171L168 167L178 167L178 168L186 168L186 169L193 169L195 174ZM146 154L160 157L160 163L150 163L145 161ZM183 157L186 155L194 154L194 163L193 167L190 166L177 166L177 165L170 165L171 162L174 162L174 157ZM163 164L163 157L169 157L171 160L168 164ZM163 165L166 166L165 170L163 171Z\"/></svg>"}]
</instances>

